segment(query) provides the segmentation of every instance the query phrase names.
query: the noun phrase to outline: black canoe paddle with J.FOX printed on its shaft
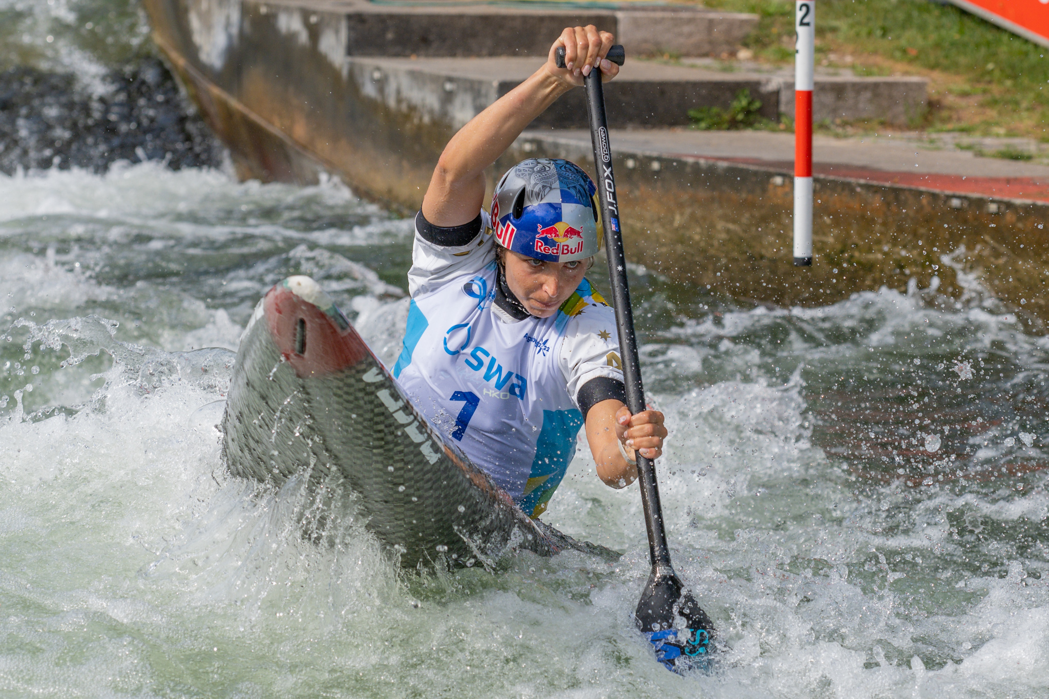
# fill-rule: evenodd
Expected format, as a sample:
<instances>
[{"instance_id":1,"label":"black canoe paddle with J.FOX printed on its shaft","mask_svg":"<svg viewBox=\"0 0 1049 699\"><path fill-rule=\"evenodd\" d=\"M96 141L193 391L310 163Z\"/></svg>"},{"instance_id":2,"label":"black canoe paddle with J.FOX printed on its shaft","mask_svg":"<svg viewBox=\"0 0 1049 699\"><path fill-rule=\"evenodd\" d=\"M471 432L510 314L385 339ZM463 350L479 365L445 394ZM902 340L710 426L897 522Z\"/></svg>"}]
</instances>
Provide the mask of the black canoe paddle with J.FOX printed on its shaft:
<instances>
[{"instance_id":1,"label":"black canoe paddle with J.FOX printed on its shaft","mask_svg":"<svg viewBox=\"0 0 1049 699\"><path fill-rule=\"evenodd\" d=\"M557 67L564 67L564 49L555 54ZM609 61L623 65L622 46L608 49ZM598 197L601 202L601 220L604 224L604 246L608 255L608 278L612 281L613 307L619 330L619 349L623 361L623 379L626 385L626 407L637 414L645 410L645 392L641 385L638 362L638 344L634 336L634 313L630 310L630 291L626 284L626 258L620 233L619 204L616 201L616 180L612 173L612 147L608 143L608 124L604 115L604 90L601 69L594 68L583 80L586 86L586 105L590 111L591 140L594 145L594 167L597 170ZM707 667L711 651L713 624L670 565L670 552L663 532L663 510L659 502L655 464L641 454L638 460L638 484L641 504L645 511L648 530L648 559L652 570L641 593L635 613L638 628L656 647L657 659L670 670L683 670L700 664ZM675 617L685 619L687 633L678 637ZM699 662L697 662L699 661Z\"/></svg>"}]
</instances>

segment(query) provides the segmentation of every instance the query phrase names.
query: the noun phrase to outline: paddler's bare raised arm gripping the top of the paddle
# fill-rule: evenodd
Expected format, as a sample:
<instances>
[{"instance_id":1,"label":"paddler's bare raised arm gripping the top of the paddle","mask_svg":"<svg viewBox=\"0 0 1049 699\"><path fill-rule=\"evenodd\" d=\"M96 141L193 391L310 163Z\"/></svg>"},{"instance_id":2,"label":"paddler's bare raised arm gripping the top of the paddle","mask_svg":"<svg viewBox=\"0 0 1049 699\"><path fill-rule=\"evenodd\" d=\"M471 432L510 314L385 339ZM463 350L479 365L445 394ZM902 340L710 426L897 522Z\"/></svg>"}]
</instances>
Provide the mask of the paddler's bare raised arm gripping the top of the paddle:
<instances>
[{"instance_id":1,"label":"paddler's bare raised arm gripping the top of the paddle","mask_svg":"<svg viewBox=\"0 0 1049 699\"><path fill-rule=\"evenodd\" d=\"M613 36L593 24L568 27L550 47L547 62L523 83L474 116L448 141L423 198L423 217L436 226L469 223L485 198L485 169L495 162L521 131L557 97L583 84L597 61L603 81L619 73L604 59ZM565 68L558 68L554 51L564 47Z\"/></svg>"}]
</instances>

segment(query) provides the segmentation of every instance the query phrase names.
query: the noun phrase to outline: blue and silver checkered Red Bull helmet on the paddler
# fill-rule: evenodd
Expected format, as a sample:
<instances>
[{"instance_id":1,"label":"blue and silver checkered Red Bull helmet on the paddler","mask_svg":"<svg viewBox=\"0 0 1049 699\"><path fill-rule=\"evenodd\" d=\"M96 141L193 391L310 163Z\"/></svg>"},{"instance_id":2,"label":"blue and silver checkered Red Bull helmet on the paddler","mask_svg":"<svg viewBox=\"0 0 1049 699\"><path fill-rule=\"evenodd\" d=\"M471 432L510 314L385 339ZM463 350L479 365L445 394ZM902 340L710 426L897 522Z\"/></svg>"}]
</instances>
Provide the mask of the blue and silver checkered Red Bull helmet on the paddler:
<instances>
[{"instance_id":1,"label":"blue and silver checkered Red Bull helmet on the paddler","mask_svg":"<svg viewBox=\"0 0 1049 699\"><path fill-rule=\"evenodd\" d=\"M492 196L500 245L536 260L571 262L597 255L597 188L574 162L529 158L502 176Z\"/></svg>"}]
</instances>

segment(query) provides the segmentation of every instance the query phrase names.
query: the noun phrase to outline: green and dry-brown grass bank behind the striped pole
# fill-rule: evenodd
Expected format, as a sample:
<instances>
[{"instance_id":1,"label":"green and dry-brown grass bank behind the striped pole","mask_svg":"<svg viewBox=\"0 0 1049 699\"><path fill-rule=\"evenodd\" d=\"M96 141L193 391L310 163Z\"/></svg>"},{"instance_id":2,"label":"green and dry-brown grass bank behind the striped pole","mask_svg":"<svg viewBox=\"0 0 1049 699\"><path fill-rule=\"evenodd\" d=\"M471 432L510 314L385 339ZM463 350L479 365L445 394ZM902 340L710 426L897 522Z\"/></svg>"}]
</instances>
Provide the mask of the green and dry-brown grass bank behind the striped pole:
<instances>
[{"instance_id":1,"label":"green and dry-brown grass bank behind the striped pole","mask_svg":"<svg viewBox=\"0 0 1049 699\"><path fill-rule=\"evenodd\" d=\"M754 13L745 42L757 60L794 60L794 3L705 0L707 7ZM1049 49L929 0L819 0L816 61L861 75L929 79L929 106L912 128L1049 140ZM873 123L831 125L856 132ZM1022 157L1022 156L1020 156Z\"/></svg>"}]
</instances>

